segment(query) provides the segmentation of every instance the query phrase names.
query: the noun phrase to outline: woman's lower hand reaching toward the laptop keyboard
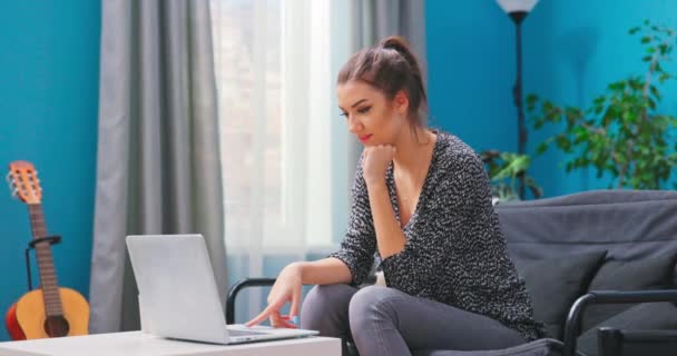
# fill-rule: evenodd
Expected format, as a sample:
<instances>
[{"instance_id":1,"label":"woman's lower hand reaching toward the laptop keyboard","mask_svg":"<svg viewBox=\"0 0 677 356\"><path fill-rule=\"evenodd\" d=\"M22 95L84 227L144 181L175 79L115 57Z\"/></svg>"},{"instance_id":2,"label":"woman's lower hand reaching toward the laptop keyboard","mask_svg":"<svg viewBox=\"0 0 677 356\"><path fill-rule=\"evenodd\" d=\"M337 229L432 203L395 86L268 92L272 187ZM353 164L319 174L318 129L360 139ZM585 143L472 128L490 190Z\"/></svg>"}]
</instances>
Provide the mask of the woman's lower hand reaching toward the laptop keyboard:
<instances>
[{"instance_id":1,"label":"woman's lower hand reaching toward the laptop keyboard","mask_svg":"<svg viewBox=\"0 0 677 356\"><path fill-rule=\"evenodd\" d=\"M297 328L296 325L290 323L290 319L295 319L298 315L303 287L301 276L301 265L287 265L277 276L273 288L268 294L268 306L255 318L247 322L246 326L251 327L269 318L271 326L273 327ZM292 303L290 315L279 315L279 309L282 309L287 301Z\"/></svg>"}]
</instances>

